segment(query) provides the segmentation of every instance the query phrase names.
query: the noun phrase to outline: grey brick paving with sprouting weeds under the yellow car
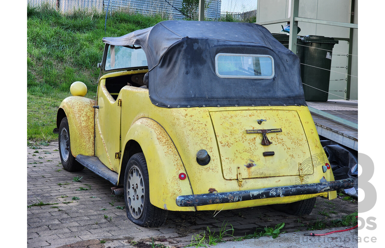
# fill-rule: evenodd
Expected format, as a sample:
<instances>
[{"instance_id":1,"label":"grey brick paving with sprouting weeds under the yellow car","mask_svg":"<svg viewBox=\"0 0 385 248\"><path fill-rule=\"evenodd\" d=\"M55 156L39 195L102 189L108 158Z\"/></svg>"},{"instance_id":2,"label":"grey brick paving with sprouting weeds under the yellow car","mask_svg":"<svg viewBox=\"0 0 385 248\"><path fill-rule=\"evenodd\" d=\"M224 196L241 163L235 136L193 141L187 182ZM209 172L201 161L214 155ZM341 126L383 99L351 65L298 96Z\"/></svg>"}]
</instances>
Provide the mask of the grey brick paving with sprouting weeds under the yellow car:
<instances>
[{"instance_id":1,"label":"grey brick paving with sprouting weeds under the yellow car","mask_svg":"<svg viewBox=\"0 0 385 248\"><path fill-rule=\"evenodd\" d=\"M218 230L223 223L233 226L234 236L282 222L285 222L284 231L294 232L307 230L320 221L328 224L358 209L354 202L318 197L315 209L308 216L288 215L269 206L220 211L215 217L212 211L170 211L166 225L144 228L128 220L125 210L116 208L125 206L124 199L111 196L112 185L108 181L87 168L76 173L65 171L57 149L57 142L40 149L27 148L27 206L40 201L54 204L27 208L28 248L148 247L145 243L152 240L181 247L190 243L194 233L207 227ZM77 175L83 178L72 181ZM88 190L79 190L80 187ZM330 216L326 218L319 212ZM101 244L100 240L106 242Z\"/></svg>"}]
</instances>

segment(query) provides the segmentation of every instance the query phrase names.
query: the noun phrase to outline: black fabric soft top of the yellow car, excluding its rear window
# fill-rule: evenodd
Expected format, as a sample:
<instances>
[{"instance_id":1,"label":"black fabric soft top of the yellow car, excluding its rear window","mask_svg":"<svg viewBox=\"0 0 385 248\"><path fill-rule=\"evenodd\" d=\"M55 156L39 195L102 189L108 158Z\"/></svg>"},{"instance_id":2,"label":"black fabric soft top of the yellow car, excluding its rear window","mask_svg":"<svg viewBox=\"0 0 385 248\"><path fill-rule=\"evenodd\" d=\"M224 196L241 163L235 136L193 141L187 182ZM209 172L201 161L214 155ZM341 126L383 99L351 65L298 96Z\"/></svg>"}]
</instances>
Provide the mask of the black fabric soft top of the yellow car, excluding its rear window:
<instances>
[{"instance_id":1,"label":"black fabric soft top of the yellow car, excluding its rear window","mask_svg":"<svg viewBox=\"0 0 385 248\"><path fill-rule=\"evenodd\" d=\"M103 42L143 48L149 96L159 107L306 105L299 58L255 23L164 21ZM218 53L269 55L275 75L218 77Z\"/></svg>"}]
</instances>

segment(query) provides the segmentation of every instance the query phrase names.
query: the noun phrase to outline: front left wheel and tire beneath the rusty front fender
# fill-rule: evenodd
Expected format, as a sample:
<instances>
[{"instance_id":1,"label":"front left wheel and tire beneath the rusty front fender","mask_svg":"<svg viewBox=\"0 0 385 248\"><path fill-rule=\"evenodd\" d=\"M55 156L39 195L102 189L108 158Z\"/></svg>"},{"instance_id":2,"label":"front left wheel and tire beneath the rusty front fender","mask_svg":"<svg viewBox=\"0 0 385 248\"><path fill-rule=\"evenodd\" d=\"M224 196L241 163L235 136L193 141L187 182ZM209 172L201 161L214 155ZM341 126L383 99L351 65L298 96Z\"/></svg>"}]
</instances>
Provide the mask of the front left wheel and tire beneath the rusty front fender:
<instances>
[{"instance_id":1,"label":"front left wheel and tire beneath the rusty front fender","mask_svg":"<svg viewBox=\"0 0 385 248\"><path fill-rule=\"evenodd\" d=\"M71 153L70 128L68 126L67 117L62 119L59 127L59 153L60 160L66 171L81 171L84 166L80 165Z\"/></svg>"}]
</instances>

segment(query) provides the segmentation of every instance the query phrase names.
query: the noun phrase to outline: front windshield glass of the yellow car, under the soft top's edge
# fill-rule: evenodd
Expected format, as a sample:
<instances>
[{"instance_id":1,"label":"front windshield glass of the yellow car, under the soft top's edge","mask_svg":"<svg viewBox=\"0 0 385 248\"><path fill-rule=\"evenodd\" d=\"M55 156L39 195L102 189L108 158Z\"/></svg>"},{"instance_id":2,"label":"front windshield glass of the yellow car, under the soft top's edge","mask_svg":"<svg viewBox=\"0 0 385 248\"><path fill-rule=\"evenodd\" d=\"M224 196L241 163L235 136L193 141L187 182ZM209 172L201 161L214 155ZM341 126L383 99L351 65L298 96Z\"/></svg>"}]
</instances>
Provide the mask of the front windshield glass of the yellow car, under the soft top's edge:
<instances>
[{"instance_id":1,"label":"front windshield glass of the yellow car, under the soft top's edge","mask_svg":"<svg viewBox=\"0 0 385 248\"><path fill-rule=\"evenodd\" d=\"M129 48L110 45L104 69L117 70L130 67L147 66L147 58L142 48Z\"/></svg>"}]
</instances>

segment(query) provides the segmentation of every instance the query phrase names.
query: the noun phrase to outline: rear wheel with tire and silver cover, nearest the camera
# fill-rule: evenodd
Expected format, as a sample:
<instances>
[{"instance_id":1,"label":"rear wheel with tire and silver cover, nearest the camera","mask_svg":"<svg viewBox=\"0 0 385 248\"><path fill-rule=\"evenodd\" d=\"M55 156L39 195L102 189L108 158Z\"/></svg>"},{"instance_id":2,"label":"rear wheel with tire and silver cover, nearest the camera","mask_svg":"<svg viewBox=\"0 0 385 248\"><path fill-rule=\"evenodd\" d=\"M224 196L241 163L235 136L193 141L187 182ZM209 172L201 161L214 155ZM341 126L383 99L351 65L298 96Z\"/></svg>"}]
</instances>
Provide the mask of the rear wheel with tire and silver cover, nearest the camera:
<instances>
[{"instance_id":1,"label":"rear wheel with tire and silver cover, nearest the camera","mask_svg":"<svg viewBox=\"0 0 385 248\"><path fill-rule=\"evenodd\" d=\"M149 176L143 153L136 153L127 163L124 173L124 201L127 217L133 223L158 227L166 222L167 211L150 202Z\"/></svg>"}]
</instances>

